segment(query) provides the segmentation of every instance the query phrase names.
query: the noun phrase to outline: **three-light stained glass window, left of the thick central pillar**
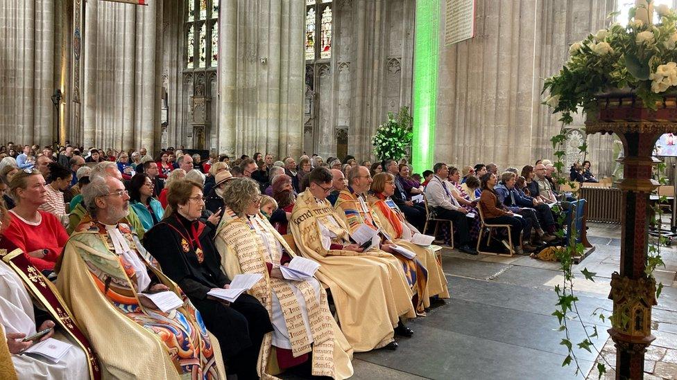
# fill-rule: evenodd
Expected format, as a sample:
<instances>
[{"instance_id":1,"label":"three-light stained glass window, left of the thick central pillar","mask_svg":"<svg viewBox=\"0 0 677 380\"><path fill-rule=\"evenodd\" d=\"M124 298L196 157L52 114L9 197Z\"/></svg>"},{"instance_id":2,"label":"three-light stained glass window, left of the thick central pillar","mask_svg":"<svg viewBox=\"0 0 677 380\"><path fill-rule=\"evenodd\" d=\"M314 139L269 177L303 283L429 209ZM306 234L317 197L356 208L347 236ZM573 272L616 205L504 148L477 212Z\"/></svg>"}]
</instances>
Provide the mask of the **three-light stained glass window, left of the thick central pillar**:
<instances>
[{"instance_id":1,"label":"three-light stained glass window, left of the thick central pillar","mask_svg":"<svg viewBox=\"0 0 677 380\"><path fill-rule=\"evenodd\" d=\"M211 69L218 64L220 0L184 0L186 69Z\"/></svg>"}]
</instances>

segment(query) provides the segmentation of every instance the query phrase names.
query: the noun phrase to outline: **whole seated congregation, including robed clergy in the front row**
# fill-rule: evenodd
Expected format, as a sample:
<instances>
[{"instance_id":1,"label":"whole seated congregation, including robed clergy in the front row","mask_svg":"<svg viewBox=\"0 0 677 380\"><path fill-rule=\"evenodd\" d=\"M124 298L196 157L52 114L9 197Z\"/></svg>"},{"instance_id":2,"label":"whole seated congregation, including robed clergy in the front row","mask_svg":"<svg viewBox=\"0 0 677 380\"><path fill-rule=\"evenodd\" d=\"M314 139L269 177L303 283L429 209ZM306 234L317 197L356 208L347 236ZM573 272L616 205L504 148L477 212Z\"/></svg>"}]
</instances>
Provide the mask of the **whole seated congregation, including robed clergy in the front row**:
<instances>
[{"instance_id":1,"label":"whole seated congregation, including robed clergy in the front row","mask_svg":"<svg viewBox=\"0 0 677 380\"><path fill-rule=\"evenodd\" d=\"M449 298L433 239L531 253L569 209L547 161L75 151L0 161L2 379L346 379Z\"/></svg>"}]
</instances>

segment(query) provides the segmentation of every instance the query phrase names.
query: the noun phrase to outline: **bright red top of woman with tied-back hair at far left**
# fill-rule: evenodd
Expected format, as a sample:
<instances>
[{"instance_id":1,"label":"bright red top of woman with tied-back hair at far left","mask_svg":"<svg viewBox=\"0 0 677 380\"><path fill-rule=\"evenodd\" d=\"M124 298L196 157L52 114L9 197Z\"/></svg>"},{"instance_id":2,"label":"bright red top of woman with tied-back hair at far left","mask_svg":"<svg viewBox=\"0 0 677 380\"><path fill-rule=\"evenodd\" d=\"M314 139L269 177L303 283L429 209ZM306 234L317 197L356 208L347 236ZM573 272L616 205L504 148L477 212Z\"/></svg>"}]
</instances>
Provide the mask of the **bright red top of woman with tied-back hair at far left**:
<instances>
[{"instance_id":1,"label":"bright red top of woman with tied-back hair at far left","mask_svg":"<svg viewBox=\"0 0 677 380\"><path fill-rule=\"evenodd\" d=\"M24 251L24 255L35 268L40 271L51 271L66 245L68 233L57 217L46 211L37 212L40 212L42 220L39 224L33 225L10 211L10 226L4 231L3 239L0 239L0 248L10 249L16 246ZM37 249L47 249L49 252L42 258L28 256L28 252Z\"/></svg>"}]
</instances>

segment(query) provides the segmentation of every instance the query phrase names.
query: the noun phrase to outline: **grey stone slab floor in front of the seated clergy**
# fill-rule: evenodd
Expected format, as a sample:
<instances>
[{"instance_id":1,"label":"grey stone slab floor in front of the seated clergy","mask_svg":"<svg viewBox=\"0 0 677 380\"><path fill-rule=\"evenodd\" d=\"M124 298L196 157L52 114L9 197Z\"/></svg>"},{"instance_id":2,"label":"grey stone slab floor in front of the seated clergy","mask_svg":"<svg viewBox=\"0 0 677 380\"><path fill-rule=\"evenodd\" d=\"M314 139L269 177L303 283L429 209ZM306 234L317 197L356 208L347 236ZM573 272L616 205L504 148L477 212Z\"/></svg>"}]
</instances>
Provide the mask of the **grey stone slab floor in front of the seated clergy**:
<instances>
[{"instance_id":1,"label":"grey stone slab floor in front of the seated clergy","mask_svg":"<svg viewBox=\"0 0 677 380\"><path fill-rule=\"evenodd\" d=\"M582 322L597 326L594 345L607 359L613 379L615 354L602 321L592 312L610 310L607 299L611 273L619 265L620 229L612 224L590 224L595 251L576 271L597 273L594 282L576 280ZM655 276L665 285L653 309L656 340L646 355L645 379L677 379L677 244L662 248L667 266ZM553 288L563 276L558 263L529 257L471 256L443 251L443 267L452 298L425 318L411 320L412 338L398 338L395 352L376 350L354 355L352 379L597 379L596 350L576 350L581 373L572 364L562 366L567 349L557 332L556 295ZM606 315L610 311L603 311ZM571 341L585 338L581 321L570 322ZM301 379L286 374L284 379Z\"/></svg>"}]
</instances>

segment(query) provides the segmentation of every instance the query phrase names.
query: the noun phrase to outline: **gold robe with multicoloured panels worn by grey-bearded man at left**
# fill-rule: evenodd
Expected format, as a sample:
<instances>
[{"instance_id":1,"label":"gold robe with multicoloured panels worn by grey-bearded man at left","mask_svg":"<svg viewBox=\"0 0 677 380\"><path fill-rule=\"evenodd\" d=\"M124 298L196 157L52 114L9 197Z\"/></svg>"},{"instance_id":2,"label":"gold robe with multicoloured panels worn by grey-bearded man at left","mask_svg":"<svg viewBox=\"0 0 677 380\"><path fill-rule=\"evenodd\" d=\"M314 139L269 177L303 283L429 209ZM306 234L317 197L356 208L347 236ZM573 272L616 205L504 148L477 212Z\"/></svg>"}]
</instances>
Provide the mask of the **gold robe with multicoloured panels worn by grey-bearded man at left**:
<instances>
[{"instance_id":1,"label":"gold robe with multicoloured panels worn by grey-bearded man at left","mask_svg":"<svg viewBox=\"0 0 677 380\"><path fill-rule=\"evenodd\" d=\"M177 284L151 265L126 224L117 228L151 276L184 304L164 313L139 302L135 271L102 224L83 220L68 240L57 287L94 345L108 376L117 379L225 379L221 350ZM114 328L111 328L114 327Z\"/></svg>"}]
</instances>

